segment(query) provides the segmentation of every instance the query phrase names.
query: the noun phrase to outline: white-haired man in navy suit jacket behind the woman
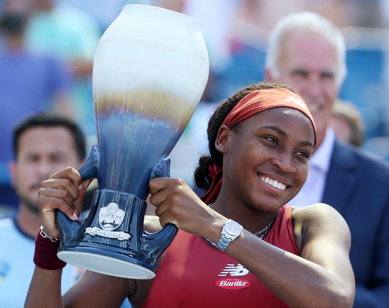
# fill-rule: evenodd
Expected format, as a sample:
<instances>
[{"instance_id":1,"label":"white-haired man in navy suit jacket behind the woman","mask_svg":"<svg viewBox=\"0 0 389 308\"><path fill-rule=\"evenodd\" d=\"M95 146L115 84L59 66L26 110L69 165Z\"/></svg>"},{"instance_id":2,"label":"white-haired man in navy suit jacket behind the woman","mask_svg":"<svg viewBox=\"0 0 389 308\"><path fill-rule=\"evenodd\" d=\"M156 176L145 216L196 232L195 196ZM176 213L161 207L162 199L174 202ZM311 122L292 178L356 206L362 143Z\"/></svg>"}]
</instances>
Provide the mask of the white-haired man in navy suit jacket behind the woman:
<instances>
[{"instance_id":1,"label":"white-haired man in navy suit jacket behind the woman","mask_svg":"<svg viewBox=\"0 0 389 308\"><path fill-rule=\"evenodd\" d=\"M338 142L329 126L345 75L344 39L327 19L301 12L274 26L265 78L295 87L310 105L317 129L307 181L288 205L323 202L342 214L352 237L354 308L378 308L389 304L389 167Z\"/></svg>"}]
</instances>

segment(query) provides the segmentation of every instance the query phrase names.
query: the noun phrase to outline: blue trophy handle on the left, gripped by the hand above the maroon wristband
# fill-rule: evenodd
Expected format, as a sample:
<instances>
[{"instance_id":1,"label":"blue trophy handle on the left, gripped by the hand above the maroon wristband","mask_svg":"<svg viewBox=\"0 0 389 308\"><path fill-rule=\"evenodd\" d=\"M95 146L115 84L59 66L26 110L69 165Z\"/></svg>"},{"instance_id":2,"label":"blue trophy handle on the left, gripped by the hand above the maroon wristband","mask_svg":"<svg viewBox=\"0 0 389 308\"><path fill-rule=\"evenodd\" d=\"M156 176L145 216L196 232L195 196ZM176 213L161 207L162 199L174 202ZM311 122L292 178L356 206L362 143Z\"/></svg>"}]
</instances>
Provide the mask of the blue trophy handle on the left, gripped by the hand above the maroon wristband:
<instances>
[{"instance_id":1,"label":"blue trophy handle on the left, gripped by the hand above the maroon wristband","mask_svg":"<svg viewBox=\"0 0 389 308\"><path fill-rule=\"evenodd\" d=\"M88 158L86 158L86 161L78 171L81 174L82 180L96 178L99 163L100 151L97 144L95 144L92 147ZM60 232L61 245L65 245L68 241L73 240L76 237L82 221L73 221L58 209L55 210L55 214L56 224L58 231Z\"/></svg>"}]
</instances>

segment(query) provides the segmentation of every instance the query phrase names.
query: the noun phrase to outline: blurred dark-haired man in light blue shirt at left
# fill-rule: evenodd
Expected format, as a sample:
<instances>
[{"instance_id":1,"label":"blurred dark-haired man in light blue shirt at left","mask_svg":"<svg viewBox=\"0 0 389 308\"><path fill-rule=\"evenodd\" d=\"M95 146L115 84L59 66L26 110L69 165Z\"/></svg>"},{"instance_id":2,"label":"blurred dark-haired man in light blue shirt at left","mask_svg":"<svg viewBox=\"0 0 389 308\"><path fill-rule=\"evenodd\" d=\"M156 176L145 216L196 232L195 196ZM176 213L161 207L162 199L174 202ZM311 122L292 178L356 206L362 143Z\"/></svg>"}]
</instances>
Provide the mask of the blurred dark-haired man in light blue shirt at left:
<instances>
[{"instance_id":1,"label":"blurred dark-haired man in light blue shirt at left","mask_svg":"<svg viewBox=\"0 0 389 308\"><path fill-rule=\"evenodd\" d=\"M85 139L74 122L42 113L16 127L13 151L10 174L19 208L15 218L0 219L0 303L2 307L20 308L35 267L34 239L41 226L37 205L40 183L65 167L79 169L84 162ZM62 293L84 271L65 266Z\"/></svg>"}]
</instances>

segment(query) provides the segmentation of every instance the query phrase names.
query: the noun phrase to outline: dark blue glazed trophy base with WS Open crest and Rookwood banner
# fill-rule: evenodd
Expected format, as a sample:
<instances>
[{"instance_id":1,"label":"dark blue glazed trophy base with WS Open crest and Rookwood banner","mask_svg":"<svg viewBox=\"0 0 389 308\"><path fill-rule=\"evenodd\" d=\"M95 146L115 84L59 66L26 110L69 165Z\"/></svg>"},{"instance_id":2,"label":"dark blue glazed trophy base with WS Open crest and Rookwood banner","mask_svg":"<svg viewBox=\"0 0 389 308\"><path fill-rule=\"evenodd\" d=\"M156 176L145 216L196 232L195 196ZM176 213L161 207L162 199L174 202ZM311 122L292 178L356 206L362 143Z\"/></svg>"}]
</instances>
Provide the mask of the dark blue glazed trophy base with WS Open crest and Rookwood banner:
<instances>
[{"instance_id":1,"label":"dark blue glazed trophy base with WS Open crest and Rookwood banner","mask_svg":"<svg viewBox=\"0 0 389 308\"><path fill-rule=\"evenodd\" d=\"M121 218L121 221L116 228L103 230L107 221L105 217L109 214L109 204L112 202L116 204L116 213L122 213L121 217L114 217ZM122 191L97 190L89 216L84 221L70 221L65 214L57 211L61 237L58 258L106 275L153 278L156 271L155 259L142 249L144 245L140 240L141 237L148 236L148 233L143 231L145 207L145 200L137 196ZM78 225L75 226L75 223ZM115 222L113 223L115 227ZM107 234L119 233L123 233L127 238L119 240L107 237Z\"/></svg>"}]
</instances>

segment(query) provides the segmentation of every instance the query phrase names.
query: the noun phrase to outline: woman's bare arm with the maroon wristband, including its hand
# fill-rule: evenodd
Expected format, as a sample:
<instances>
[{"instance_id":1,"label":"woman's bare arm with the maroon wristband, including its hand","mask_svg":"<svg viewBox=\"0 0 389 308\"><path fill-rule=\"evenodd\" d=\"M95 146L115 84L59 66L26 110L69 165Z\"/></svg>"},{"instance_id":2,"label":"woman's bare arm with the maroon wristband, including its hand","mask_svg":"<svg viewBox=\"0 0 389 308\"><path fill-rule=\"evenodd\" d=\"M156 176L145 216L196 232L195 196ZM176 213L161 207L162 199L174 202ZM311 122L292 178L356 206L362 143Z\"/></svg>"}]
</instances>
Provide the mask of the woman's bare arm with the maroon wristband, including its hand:
<instances>
[{"instance_id":1,"label":"woman's bare arm with the maroon wristband, including its hand","mask_svg":"<svg viewBox=\"0 0 389 308\"><path fill-rule=\"evenodd\" d=\"M89 182L82 182L79 173L70 167L42 182L38 204L43 228L48 235L58 237L55 208L67 213L71 219L74 219L75 209L81 212L82 198ZM62 299L61 274L62 270L45 270L35 266L25 308L120 307L135 288L135 284L131 284L133 281L125 278L87 271Z\"/></svg>"}]
</instances>

